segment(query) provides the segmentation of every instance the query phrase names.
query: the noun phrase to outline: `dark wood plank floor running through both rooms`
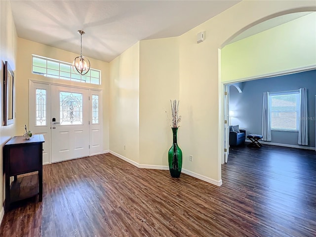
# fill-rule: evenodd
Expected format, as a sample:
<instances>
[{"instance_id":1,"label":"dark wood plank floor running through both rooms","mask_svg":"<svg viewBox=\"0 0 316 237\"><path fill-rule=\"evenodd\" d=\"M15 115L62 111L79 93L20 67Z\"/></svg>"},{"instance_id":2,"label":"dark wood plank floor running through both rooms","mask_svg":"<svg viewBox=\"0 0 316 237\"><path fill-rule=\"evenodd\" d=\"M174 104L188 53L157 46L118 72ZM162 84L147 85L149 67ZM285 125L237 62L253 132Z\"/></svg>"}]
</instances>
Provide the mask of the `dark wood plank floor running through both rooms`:
<instances>
[{"instance_id":1,"label":"dark wood plank floor running through both rooms","mask_svg":"<svg viewBox=\"0 0 316 237\"><path fill-rule=\"evenodd\" d=\"M112 155L43 167L43 200L5 213L1 237L315 237L316 152L233 148L216 187Z\"/></svg>"}]
</instances>

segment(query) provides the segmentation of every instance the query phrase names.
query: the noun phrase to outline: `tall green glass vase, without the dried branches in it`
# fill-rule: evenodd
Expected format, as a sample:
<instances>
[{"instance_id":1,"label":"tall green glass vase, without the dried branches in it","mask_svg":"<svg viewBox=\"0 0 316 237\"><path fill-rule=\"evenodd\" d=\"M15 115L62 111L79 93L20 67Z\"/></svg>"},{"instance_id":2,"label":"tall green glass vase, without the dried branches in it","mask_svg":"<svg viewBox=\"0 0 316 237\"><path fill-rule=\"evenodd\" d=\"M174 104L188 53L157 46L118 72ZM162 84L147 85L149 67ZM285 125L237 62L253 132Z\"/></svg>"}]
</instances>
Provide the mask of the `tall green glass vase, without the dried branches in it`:
<instances>
[{"instance_id":1,"label":"tall green glass vase, without the dried branches in it","mask_svg":"<svg viewBox=\"0 0 316 237\"><path fill-rule=\"evenodd\" d=\"M179 178L182 169L182 151L177 144L177 127L172 127L173 144L168 153L169 170L171 177Z\"/></svg>"}]
</instances>

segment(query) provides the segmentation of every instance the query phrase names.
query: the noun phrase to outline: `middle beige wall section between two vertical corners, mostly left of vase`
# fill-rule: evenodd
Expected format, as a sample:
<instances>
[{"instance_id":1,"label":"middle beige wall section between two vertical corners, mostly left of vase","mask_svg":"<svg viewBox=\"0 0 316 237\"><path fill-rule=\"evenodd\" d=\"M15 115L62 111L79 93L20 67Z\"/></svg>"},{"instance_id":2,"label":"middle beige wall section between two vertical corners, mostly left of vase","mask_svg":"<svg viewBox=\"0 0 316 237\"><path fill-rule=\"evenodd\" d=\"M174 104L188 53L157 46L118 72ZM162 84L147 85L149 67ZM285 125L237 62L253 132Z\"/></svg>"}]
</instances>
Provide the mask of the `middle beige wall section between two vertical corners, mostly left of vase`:
<instances>
[{"instance_id":1,"label":"middle beige wall section between two vertical corners, mostly left of vase","mask_svg":"<svg viewBox=\"0 0 316 237\"><path fill-rule=\"evenodd\" d=\"M168 165L172 131L170 99L179 99L177 37L140 41L140 164ZM180 109L182 101L180 101ZM179 147L182 127L179 128Z\"/></svg>"}]
</instances>

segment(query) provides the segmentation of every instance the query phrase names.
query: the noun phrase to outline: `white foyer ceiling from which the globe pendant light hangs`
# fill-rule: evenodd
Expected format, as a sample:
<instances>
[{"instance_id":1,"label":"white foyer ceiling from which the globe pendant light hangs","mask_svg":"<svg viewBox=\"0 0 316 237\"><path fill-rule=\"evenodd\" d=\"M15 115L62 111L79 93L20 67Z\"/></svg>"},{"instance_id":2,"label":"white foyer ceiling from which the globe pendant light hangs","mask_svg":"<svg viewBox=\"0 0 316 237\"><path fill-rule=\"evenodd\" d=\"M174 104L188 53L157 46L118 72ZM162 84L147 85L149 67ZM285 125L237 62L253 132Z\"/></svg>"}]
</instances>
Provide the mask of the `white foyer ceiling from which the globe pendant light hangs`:
<instances>
[{"instance_id":1,"label":"white foyer ceiling from which the globe pendant light hangs","mask_svg":"<svg viewBox=\"0 0 316 237\"><path fill-rule=\"evenodd\" d=\"M110 62L139 40L180 36L240 0L11 0L17 35Z\"/></svg>"}]
</instances>

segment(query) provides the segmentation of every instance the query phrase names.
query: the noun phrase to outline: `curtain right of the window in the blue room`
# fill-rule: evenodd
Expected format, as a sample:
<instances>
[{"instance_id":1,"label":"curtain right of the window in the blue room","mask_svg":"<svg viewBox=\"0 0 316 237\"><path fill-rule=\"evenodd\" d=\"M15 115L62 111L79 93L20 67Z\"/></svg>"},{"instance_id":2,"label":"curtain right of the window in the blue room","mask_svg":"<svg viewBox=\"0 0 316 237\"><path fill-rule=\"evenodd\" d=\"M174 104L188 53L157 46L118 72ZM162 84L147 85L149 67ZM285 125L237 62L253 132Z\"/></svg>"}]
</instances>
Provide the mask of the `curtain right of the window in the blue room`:
<instances>
[{"instance_id":1,"label":"curtain right of the window in the blue room","mask_svg":"<svg viewBox=\"0 0 316 237\"><path fill-rule=\"evenodd\" d=\"M298 144L308 145L308 114L307 114L307 90L300 88L300 114L299 114L299 129L298 129Z\"/></svg>"}]
</instances>

